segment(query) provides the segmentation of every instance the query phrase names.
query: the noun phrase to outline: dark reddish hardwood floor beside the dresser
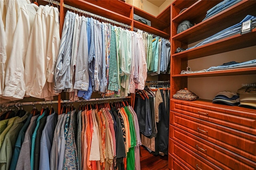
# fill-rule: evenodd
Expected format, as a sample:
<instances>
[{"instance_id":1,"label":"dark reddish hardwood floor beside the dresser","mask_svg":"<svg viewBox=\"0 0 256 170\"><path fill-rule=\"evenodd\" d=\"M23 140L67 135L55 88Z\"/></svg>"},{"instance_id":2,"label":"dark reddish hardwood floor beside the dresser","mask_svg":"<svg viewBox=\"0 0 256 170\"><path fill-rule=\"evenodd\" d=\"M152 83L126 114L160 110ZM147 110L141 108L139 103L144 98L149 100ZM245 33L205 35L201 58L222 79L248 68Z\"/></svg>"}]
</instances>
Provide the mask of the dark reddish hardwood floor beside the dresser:
<instances>
[{"instance_id":1,"label":"dark reddish hardwood floor beside the dresser","mask_svg":"<svg viewBox=\"0 0 256 170\"><path fill-rule=\"evenodd\" d=\"M168 170L168 156L154 156L148 150L140 146L141 170Z\"/></svg>"}]
</instances>

